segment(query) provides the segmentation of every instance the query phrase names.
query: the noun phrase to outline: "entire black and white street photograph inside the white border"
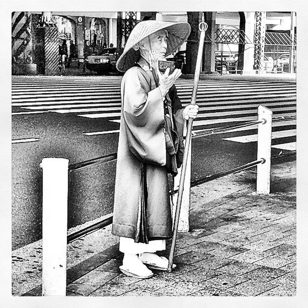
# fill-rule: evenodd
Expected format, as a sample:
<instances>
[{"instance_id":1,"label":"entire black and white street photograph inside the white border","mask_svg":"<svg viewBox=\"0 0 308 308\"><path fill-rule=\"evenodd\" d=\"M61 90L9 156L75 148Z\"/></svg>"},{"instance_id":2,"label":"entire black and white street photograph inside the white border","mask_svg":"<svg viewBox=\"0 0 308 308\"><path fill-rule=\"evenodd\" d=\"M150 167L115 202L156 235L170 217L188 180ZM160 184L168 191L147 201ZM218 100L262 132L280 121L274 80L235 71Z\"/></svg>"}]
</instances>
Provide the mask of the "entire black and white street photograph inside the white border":
<instances>
[{"instance_id":1,"label":"entire black and white street photograph inside the white border","mask_svg":"<svg viewBox=\"0 0 308 308\"><path fill-rule=\"evenodd\" d=\"M9 296L290 307L300 12L45 7L6 13Z\"/></svg>"}]
</instances>

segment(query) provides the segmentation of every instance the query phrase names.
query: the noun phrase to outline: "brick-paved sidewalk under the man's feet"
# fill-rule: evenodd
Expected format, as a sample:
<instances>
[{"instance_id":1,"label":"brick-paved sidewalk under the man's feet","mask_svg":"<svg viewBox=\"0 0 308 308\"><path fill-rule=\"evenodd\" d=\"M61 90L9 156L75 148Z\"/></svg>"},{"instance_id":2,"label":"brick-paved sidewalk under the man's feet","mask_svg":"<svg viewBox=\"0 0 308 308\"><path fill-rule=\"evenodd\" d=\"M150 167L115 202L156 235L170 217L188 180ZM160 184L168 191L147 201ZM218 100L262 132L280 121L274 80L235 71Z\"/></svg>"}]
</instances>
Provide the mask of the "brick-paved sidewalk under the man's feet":
<instances>
[{"instance_id":1,"label":"brick-paved sidewalk under the man's feet","mask_svg":"<svg viewBox=\"0 0 308 308\"><path fill-rule=\"evenodd\" d=\"M202 198L207 184L193 188L192 231L178 236L172 273L127 277L118 269L122 255L114 245L70 271L80 278L70 280L67 295L295 295L295 162L276 171L272 190L280 192L270 195L242 189L207 202Z\"/></svg>"}]
</instances>

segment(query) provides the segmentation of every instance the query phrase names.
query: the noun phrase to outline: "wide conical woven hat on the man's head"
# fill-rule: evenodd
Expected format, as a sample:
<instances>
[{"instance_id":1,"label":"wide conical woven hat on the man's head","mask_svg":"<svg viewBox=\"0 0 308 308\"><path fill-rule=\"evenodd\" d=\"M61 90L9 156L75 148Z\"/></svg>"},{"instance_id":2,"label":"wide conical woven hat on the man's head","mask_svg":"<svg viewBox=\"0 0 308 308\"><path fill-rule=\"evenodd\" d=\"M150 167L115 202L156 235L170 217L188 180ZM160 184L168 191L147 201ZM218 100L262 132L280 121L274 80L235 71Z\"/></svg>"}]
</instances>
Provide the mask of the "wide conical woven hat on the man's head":
<instances>
[{"instance_id":1,"label":"wide conical woven hat on the man's head","mask_svg":"<svg viewBox=\"0 0 308 308\"><path fill-rule=\"evenodd\" d=\"M138 23L131 31L124 51L117 61L117 69L124 72L134 66L140 57L140 52L132 47L147 36L163 29L168 31L166 56L176 51L185 42L191 30L190 25L185 22L147 20Z\"/></svg>"}]
</instances>

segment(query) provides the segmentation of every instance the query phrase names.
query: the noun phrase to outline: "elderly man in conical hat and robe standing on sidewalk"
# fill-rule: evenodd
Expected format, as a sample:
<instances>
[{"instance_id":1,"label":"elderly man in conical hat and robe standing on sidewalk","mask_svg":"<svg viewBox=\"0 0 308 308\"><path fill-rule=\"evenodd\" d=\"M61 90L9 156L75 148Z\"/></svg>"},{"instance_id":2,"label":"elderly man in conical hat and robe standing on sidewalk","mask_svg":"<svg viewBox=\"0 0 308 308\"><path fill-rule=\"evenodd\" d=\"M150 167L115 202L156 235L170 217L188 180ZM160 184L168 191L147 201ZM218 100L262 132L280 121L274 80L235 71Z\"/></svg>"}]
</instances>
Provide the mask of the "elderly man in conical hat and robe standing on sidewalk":
<instances>
[{"instance_id":1,"label":"elderly man in conical hat and robe standing on sidewalk","mask_svg":"<svg viewBox=\"0 0 308 308\"><path fill-rule=\"evenodd\" d=\"M168 268L168 259L156 254L172 237L168 174L174 177L181 166L184 119L195 118L198 106L182 109L174 86L181 70L161 73L158 61L189 33L188 23L140 22L117 61L125 74L112 234L120 237L124 253L120 270L133 277L149 278L150 268Z\"/></svg>"}]
</instances>

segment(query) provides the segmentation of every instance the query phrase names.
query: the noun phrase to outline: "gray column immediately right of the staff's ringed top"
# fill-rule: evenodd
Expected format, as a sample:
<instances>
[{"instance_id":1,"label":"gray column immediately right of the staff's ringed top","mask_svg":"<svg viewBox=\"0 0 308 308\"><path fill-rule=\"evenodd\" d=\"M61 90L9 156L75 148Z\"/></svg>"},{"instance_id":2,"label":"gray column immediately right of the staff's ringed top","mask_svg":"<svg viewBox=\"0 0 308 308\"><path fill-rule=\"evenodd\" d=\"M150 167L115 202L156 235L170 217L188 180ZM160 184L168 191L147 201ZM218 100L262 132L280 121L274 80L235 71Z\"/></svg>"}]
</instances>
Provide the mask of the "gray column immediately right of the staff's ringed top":
<instances>
[{"instance_id":1,"label":"gray column immediately right of the staff's ringed top","mask_svg":"<svg viewBox=\"0 0 308 308\"><path fill-rule=\"evenodd\" d=\"M210 74L215 72L216 12L204 12L204 21L208 28L205 33L201 71Z\"/></svg>"}]
</instances>

